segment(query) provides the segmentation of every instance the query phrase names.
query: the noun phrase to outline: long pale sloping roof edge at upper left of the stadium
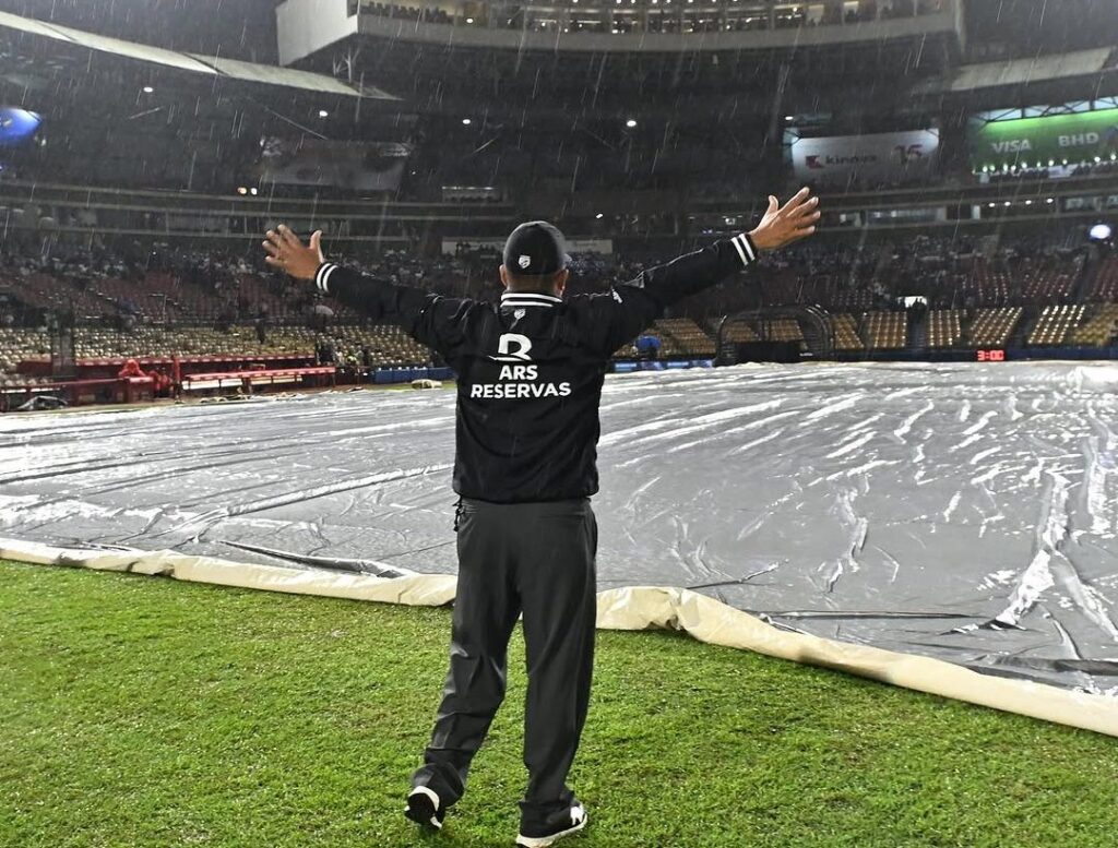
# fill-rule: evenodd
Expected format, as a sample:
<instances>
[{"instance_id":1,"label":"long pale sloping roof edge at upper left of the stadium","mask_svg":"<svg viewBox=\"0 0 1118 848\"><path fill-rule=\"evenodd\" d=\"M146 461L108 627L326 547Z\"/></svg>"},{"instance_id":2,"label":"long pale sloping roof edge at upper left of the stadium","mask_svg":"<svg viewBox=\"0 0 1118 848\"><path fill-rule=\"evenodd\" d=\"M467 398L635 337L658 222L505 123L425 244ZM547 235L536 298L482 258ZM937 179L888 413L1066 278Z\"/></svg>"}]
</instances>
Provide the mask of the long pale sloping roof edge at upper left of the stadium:
<instances>
[{"instance_id":1,"label":"long pale sloping roof edge at upper left of the stadium","mask_svg":"<svg viewBox=\"0 0 1118 848\"><path fill-rule=\"evenodd\" d=\"M0 29L16 30L37 38L49 38L74 47L111 54L125 59L161 65L177 70L237 79L248 83L300 88L343 97L395 101L397 97L369 85L351 85L341 79L307 70L260 65L216 56L180 53L120 38L98 36L70 27L61 27L9 12L0 12Z\"/></svg>"}]
</instances>

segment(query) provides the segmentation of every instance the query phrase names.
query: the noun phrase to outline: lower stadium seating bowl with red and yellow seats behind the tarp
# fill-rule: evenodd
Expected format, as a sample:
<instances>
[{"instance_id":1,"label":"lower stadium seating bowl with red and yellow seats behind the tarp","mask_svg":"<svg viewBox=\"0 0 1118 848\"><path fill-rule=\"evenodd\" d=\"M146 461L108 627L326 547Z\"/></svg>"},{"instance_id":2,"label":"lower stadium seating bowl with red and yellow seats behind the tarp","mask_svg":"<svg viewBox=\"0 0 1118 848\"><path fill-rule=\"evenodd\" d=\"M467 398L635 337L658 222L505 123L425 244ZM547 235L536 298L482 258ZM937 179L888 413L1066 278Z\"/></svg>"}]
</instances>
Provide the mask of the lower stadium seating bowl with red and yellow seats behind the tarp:
<instances>
[{"instance_id":1,"label":"lower stadium seating bowl with red and yellow seats behind the tarp","mask_svg":"<svg viewBox=\"0 0 1118 848\"><path fill-rule=\"evenodd\" d=\"M1107 346L1116 335L1118 261L1103 256L1088 265L1088 251L1068 245L1067 234L1003 236L982 253L968 240L931 237L821 242L803 256L766 257L751 285L728 282L681 302L672 317L647 332L659 350L642 354L625 345L615 359L712 358L720 316L738 312L750 317L731 323L727 341L798 342L811 351L816 342L805 337L798 321L764 317L756 312L758 301L830 309L835 351L844 355L890 355L912 345L931 351ZM671 248L636 256L578 254L568 292L603 292L633 279L665 250ZM329 350L332 362L354 370L442 364L402 331L369 324L309 286L254 266L250 255L140 245L120 255L63 245L54 253L0 261L0 373L13 374L23 360L49 358L46 316L68 312L78 323L79 360L287 353L321 359ZM438 294L492 299L501 290L493 273L500 257L491 246L461 244L454 256L421 258L396 249L354 251L345 259ZM932 308L898 309L901 294L922 295Z\"/></svg>"}]
</instances>

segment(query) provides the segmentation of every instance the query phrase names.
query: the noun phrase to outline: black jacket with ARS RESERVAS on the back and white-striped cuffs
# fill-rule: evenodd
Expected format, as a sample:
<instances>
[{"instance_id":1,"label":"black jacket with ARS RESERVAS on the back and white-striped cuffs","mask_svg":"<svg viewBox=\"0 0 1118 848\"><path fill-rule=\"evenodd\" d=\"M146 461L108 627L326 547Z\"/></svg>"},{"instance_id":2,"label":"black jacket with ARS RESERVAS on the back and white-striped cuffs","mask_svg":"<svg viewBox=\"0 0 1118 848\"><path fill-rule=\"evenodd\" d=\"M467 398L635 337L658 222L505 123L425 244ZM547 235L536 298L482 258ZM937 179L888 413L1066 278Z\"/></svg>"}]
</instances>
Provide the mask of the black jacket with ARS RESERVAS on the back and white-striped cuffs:
<instances>
[{"instance_id":1,"label":"black jacket with ARS RESERVAS on the back and white-striped cuffs","mask_svg":"<svg viewBox=\"0 0 1118 848\"><path fill-rule=\"evenodd\" d=\"M644 271L608 294L442 297L324 263L318 287L399 324L458 375L454 490L494 503L598 490L598 402L610 355L664 307L756 261L740 235Z\"/></svg>"}]
</instances>

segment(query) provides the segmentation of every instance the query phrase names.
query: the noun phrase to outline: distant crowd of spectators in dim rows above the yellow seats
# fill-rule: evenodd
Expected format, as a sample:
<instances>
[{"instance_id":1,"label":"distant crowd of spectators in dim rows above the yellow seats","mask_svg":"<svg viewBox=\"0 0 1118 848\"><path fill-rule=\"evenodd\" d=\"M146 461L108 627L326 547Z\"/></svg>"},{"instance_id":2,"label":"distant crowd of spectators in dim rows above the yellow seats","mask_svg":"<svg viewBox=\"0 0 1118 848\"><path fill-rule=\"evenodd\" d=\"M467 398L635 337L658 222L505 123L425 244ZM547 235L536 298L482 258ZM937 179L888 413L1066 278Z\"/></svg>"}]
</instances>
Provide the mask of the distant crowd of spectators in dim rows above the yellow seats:
<instances>
[{"instance_id":1,"label":"distant crowd of spectators in dim rows above the yellow seats","mask_svg":"<svg viewBox=\"0 0 1118 848\"><path fill-rule=\"evenodd\" d=\"M861 244L821 240L765 256L756 285L717 287L684 302L675 314L701 320L750 305L790 303L832 309L889 308L902 296L922 296L930 306L947 308L1062 303L1072 294L1082 253L1081 234L1072 230L1001 242L929 236ZM446 296L493 301L502 290L496 274L501 254L492 245L462 242L453 255L432 257L387 249L341 258L377 277ZM576 254L568 294L606 290L664 258L652 253ZM1062 286L1031 283L1045 275L1060 276ZM105 294L108 280L115 280L112 297ZM140 323L218 330L247 324L255 325L263 341L275 325L324 331L333 324L363 321L360 313L323 298L313 286L267 269L255 255L136 247L121 253L69 249L46 257L6 255L0 263L0 325L21 322L21 301L41 295L48 285L61 296L37 305L65 311L68 297L76 320L101 321L121 332ZM152 286L171 294L153 299ZM35 320L41 322L42 313Z\"/></svg>"}]
</instances>

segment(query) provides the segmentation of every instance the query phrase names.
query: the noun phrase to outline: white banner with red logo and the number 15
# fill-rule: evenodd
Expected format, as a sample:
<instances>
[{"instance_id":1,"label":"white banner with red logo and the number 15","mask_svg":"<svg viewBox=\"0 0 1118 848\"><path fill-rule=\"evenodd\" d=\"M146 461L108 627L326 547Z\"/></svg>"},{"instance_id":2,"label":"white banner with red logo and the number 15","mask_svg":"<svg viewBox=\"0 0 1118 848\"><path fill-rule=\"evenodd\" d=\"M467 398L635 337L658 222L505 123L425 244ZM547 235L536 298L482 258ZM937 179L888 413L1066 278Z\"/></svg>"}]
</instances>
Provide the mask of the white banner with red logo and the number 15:
<instances>
[{"instance_id":1,"label":"white banner with red logo and the number 15","mask_svg":"<svg viewBox=\"0 0 1118 848\"><path fill-rule=\"evenodd\" d=\"M909 180L928 175L939 154L938 130L795 139L792 163L800 180Z\"/></svg>"}]
</instances>

